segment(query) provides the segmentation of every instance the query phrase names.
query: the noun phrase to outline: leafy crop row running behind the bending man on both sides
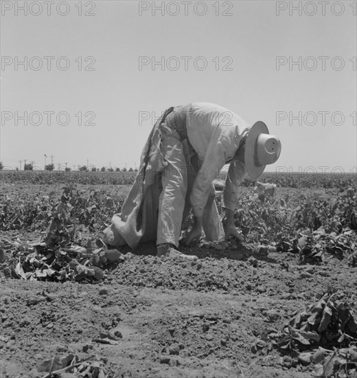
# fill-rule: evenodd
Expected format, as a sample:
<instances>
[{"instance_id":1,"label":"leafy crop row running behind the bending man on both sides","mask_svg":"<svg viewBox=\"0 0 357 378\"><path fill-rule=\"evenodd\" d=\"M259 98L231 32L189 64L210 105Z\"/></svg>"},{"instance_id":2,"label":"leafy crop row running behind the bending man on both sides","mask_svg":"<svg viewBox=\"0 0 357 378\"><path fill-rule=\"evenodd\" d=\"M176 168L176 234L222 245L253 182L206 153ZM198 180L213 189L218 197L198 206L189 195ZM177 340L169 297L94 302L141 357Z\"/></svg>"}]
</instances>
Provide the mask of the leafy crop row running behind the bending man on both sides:
<instances>
[{"instance_id":1,"label":"leafy crop row running behind the bending man on both sides","mask_svg":"<svg viewBox=\"0 0 357 378\"><path fill-rule=\"evenodd\" d=\"M2 194L0 230L45 232L51 244L82 245L84 234L96 238L121 210L127 191L65 186L62 192L40 188L32 194L21 190ZM257 194L253 189L245 192L238 199L235 223L247 243L275 243L282 251L304 252L312 260L321 260L325 251L338 256L356 249L356 187L335 190L334 198L300 190L279 196ZM220 200L217 194L222 213ZM301 238L303 244L299 244Z\"/></svg>"}]
</instances>

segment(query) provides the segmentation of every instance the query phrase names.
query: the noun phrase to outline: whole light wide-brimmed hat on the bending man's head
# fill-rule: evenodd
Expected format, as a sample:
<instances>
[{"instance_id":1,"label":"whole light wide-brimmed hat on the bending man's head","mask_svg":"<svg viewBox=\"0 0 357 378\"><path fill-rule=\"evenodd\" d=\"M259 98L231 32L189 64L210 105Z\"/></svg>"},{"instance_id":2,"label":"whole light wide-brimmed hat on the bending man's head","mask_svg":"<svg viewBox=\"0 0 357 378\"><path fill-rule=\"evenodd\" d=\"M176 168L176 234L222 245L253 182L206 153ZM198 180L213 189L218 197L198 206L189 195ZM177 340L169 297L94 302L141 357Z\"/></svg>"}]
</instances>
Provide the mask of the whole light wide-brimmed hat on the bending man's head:
<instances>
[{"instance_id":1,"label":"whole light wide-brimmed hat on the bending man's head","mask_svg":"<svg viewBox=\"0 0 357 378\"><path fill-rule=\"evenodd\" d=\"M267 164L273 164L279 159L280 151L279 138L269 134L264 122L255 122L245 144L244 161L248 175L253 179L262 175Z\"/></svg>"}]
</instances>

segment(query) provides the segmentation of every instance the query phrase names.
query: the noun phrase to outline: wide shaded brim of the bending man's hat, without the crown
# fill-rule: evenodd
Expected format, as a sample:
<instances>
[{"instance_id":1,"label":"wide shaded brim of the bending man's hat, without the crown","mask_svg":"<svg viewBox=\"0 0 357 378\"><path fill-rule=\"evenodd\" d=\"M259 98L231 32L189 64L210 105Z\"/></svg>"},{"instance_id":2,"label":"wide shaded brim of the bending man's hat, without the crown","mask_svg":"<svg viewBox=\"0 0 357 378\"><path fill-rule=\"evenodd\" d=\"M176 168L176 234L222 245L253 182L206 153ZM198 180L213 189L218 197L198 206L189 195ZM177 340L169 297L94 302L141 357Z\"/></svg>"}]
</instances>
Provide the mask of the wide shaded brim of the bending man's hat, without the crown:
<instances>
[{"instance_id":1,"label":"wide shaded brim of the bending man's hat, without the crown","mask_svg":"<svg viewBox=\"0 0 357 378\"><path fill-rule=\"evenodd\" d=\"M251 127L251 130L246 137L245 151L244 151L244 162L246 166L246 173L253 179L257 179L262 175L266 165L259 166L255 157L257 156L257 137L260 134L268 134L268 127L264 122L257 121Z\"/></svg>"}]
</instances>

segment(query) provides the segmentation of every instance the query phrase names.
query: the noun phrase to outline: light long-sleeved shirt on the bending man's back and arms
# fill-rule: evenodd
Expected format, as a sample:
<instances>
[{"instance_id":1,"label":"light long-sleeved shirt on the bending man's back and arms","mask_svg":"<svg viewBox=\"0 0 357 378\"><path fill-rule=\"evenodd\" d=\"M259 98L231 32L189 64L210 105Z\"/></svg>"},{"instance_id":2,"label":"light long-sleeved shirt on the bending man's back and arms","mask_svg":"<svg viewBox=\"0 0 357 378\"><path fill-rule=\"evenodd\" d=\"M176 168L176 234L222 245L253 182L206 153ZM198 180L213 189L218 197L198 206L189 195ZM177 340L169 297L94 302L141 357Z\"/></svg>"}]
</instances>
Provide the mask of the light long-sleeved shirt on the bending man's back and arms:
<instances>
[{"instance_id":1,"label":"light long-sleeved shirt on the bending man's back and arms","mask_svg":"<svg viewBox=\"0 0 357 378\"><path fill-rule=\"evenodd\" d=\"M236 188L246 176L244 162L235 153L250 130L249 124L232 111L209 102L192 102L185 106L185 111L187 137L200 160L200 172L190 197L194 215L202 216L212 183L228 162L224 207L235 210Z\"/></svg>"}]
</instances>

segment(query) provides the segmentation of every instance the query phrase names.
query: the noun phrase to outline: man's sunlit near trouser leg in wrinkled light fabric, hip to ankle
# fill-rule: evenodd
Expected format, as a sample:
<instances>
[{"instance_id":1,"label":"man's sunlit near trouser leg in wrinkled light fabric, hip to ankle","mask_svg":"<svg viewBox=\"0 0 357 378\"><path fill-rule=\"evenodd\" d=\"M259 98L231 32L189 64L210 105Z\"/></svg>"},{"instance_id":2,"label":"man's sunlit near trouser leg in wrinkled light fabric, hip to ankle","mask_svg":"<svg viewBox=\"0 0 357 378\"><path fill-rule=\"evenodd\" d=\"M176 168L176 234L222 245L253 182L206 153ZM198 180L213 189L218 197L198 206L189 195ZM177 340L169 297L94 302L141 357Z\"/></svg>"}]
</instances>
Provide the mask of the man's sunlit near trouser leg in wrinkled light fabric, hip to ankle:
<instances>
[{"instance_id":1,"label":"man's sunlit near trouser leg in wrinkled light fabric, hip to ankle","mask_svg":"<svg viewBox=\"0 0 357 378\"><path fill-rule=\"evenodd\" d=\"M163 158L168 166L161 174L163 190L159 198L157 245L171 243L178 247L187 191L187 168L179 134L165 124L161 129Z\"/></svg>"}]
</instances>

